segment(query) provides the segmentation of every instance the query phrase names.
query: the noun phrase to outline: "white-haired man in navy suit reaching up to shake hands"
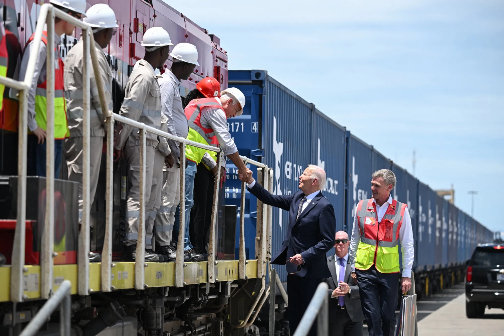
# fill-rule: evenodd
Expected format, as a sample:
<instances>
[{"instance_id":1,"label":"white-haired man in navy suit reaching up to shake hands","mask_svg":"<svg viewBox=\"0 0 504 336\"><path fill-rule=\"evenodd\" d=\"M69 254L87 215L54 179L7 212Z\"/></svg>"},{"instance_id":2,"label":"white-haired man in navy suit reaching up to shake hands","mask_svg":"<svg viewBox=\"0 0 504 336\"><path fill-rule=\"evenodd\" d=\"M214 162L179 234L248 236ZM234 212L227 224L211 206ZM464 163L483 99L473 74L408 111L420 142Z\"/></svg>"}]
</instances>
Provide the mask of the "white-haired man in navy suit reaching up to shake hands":
<instances>
[{"instance_id":1,"label":"white-haired man in navy suit reaching up to shake hands","mask_svg":"<svg viewBox=\"0 0 504 336\"><path fill-rule=\"evenodd\" d=\"M334 208L322 195L326 184L326 172L309 165L299 176L300 191L293 195L272 195L252 178L238 172L251 194L264 204L289 212L289 227L280 250L271 263L287 267L287 295L289 299L289 329L294 331L310 303L317 286L324 278L330 278L326 252L334 245L336 217ZM316 335L314 323L309 335Z\"/></svg>"}]
</instances>

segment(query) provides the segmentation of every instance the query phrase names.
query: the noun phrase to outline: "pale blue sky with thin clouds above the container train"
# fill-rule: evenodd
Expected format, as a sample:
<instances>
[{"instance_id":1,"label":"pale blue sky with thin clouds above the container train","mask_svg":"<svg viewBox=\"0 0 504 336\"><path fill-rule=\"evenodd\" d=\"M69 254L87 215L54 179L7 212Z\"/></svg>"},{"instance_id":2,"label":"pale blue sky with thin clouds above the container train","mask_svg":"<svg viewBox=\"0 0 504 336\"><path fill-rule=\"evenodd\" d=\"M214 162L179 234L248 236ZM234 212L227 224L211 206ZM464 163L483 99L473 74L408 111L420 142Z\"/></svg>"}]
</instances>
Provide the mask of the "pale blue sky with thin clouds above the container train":
<instances>
[{"instance_id":1,"label":"pale blue sky with thin clouds above the container train","mask_svg":"<svg viewBox=\"0 0 504 336\"><path fill-rule=\"evenodd\" d=\"M410 172L416 150L422 182L469 214L477 190L475 218L504 231L504 2L167 2L229 69L267 70Z\"/></svg>"}]
</instances>

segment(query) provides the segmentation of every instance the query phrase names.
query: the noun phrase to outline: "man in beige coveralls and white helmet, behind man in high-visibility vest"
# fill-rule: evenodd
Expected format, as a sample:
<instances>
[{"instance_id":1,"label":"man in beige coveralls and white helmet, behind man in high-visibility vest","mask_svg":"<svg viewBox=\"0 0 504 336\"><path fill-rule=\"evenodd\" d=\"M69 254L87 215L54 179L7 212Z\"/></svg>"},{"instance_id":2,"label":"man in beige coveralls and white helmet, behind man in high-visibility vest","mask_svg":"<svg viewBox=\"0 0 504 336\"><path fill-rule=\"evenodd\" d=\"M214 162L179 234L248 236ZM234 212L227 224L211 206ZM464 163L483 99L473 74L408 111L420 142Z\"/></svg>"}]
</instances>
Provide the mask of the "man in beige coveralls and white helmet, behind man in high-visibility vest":
<instances>
[{"instance_id":1,"label":"man in beige coveralls and white helmet, behind man in high-visibility vest","mask_svg":"<svg viewBox=\"0 0 504 336\"><path fill-rule=\"evenodd\" d=\"M83 20L92 27L95 40L94 47L98 56L98 65L102 82L105 87L105 99L108 109L112 110L112 72L108 65L103 48L105 48L112 36L115 35L116 27L114 11L105 4L92 6L86 12ZM93 46L91 46L93 47ZM68 126L70 138L64 143L65 160L68 166L68 179L79 182L79 222L82 220L82 174L83 174L83 83L86 80L82 70L86 55L84 54L84 41L81 37L79 42L70 49L65 57L65 98L67 101ZM101 153L103 148L103 137L105 136L105 117L101 110L98 89L93 69L90 71L91 97L90 97L90 138L89 138L89 199L94 199L96 187L98 185L98 175L100 172ZM91 205L90 205L91 206ZM90 253L91 262L100 261L98 253Z\"/></svg>"}]
</instances>

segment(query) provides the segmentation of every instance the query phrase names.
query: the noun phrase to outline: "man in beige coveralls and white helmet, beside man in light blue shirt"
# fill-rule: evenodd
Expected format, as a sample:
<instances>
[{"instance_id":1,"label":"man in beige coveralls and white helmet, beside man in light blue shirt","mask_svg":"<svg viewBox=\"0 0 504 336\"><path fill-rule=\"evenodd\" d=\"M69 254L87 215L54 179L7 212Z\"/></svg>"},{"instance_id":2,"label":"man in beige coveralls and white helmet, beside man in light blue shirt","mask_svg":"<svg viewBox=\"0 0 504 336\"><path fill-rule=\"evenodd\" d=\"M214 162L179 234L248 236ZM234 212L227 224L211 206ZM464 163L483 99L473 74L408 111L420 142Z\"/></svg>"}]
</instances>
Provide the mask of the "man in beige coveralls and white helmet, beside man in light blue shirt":
<instances>
[{"instance_id":1,"label":"man in beige coveralls and white helmet, beside man in light blue shirt","mask_svg":"<svg viewBox=\"0 0 504 336\"><path fill-rule=\"evenodd\" d=\"M153 27L145 32L142 45L146 47L145 56L137 62L138 65L133 70L126 84L120 114L160 129L161 100L155 69L162 68L164 62L168 59L169 46L173 44L166 30L161 27ZM126 240L124 241L123 256L133 260L136 260L138 230L140 227L140 137L141 134L139 134L138 128L121 124L114 143L117 157L120 156L122 147L124 146L124 156L129 166L128 179L131 188L127 197L126 217L128 219L128 230L126 232ZM150 202L150 197L157 196L151 193L151 186L155 162L154 154L158 144L158 136L147 132L145 144L145 204L152 206L154 205L154 201ZM167 151L170 151L170 149L168 148ZM152 208L149 209L146 207L145 217L149 218L151 212ZM150 223L150 221L147 222ZM153 224L154 221L152 221ZM147 228L146 232L152 232L152 227ZM147 239L145 244L145 261L166 261L162 254L154 253L151 248L150 241Z\"/></svg>"}]
</instances>

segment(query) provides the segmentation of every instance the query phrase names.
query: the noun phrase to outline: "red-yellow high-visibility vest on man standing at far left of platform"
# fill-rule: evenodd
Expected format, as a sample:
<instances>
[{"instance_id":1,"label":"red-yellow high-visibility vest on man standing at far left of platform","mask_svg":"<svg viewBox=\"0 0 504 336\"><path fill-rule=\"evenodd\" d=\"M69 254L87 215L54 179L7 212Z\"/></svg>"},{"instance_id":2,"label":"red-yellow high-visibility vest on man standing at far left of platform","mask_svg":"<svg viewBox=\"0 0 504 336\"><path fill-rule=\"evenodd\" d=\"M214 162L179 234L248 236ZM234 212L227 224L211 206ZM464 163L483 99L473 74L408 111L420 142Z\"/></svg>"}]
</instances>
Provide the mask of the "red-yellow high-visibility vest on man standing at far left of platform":
<instances>
[{"instance_id":1,"label":"red-yellow high-visibility vest on man standing at far left of platform","mask_svg":"<svg viewBox=\"0 0 504 336\"><path fill-rule=\"evenodd\" d=\"M35 33L28 39L28 45L35 36ZM47 31L44 30L42 42L47 45ZM25 47L26 49L26 47ZM33 50L32 52L38 52ZM57 55L58 69L54 69L54 139L65 139L70 136L67 123L67 103L65 102L65 83L63 80L63 60L61 59L59 48L54 48ZM35 90L35 121L37 125L47 130L47 80L37 85Z\"/></svg>"}]
</instances>

